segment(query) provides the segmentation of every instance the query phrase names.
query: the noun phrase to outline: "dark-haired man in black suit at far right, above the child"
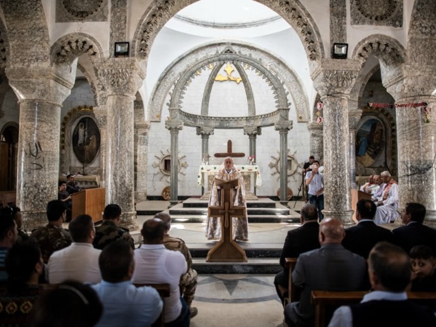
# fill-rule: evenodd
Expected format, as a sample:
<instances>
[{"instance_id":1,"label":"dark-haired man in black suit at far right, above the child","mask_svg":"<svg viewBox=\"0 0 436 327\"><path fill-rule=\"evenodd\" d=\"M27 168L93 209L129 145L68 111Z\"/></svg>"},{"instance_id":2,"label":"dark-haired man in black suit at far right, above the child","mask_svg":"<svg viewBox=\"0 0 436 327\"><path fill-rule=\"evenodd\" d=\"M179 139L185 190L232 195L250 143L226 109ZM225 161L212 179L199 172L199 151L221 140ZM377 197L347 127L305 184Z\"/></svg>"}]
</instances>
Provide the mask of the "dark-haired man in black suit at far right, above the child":
<instances>
[{"instance_id":1,"label":"dark-haired man in black suit at far right, above the child","mask_svg":"<svg viewBox=\"0 0 436 327\"><path fill-rule=\"evenodd\" d=\"M425 207L420 203L406 203L401 213L404 225L392 230L393 242L401 246L407 253L419 244L424 244L436 253L436 229L423 224L426 214Z\"/></svg>"}]
</instances>

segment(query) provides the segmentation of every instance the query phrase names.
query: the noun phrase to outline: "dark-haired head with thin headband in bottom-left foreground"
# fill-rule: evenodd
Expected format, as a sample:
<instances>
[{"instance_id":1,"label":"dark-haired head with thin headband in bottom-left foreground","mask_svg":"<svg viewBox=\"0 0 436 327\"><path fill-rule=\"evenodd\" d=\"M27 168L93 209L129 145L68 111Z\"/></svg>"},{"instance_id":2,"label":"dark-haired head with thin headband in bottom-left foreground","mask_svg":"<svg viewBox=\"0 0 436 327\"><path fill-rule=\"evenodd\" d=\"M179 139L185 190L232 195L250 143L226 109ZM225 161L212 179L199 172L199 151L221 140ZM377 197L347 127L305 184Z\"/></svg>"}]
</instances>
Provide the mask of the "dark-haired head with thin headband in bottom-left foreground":
<instances>
[{"instance_id":1,"label":"dark-haired head with thin headband in bottom-left foreground","mask_svg":"<svg viewBox=\"0 0 436 327\"><path fill-rule=\"evenodd\" d=\"M44 292L35 303L33 327L92 327L103 313L103 305L89 285L65 281Z\"/></svg>"}]
</instances>

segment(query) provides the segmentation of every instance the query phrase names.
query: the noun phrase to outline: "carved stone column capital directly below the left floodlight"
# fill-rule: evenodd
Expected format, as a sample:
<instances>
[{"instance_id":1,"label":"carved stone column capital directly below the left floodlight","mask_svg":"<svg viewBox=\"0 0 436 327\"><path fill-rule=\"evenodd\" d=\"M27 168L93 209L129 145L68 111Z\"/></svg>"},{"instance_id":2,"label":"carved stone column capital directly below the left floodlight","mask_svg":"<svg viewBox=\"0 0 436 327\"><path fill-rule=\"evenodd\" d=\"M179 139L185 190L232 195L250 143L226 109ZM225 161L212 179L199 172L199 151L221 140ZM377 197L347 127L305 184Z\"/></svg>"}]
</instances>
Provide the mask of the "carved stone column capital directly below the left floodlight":
<instances>
[{"instance_id":1,"label":"carved stone column capital directly below the left floodlight","mask_svg":"<svg viewBox=\"0 0 436 327\"><path fill-rule=\"evenodd\" d=\"M98 77L108 95L134 95L146 74L134 58L111 58L98 69Z\"/></svg>"}]
</instances>

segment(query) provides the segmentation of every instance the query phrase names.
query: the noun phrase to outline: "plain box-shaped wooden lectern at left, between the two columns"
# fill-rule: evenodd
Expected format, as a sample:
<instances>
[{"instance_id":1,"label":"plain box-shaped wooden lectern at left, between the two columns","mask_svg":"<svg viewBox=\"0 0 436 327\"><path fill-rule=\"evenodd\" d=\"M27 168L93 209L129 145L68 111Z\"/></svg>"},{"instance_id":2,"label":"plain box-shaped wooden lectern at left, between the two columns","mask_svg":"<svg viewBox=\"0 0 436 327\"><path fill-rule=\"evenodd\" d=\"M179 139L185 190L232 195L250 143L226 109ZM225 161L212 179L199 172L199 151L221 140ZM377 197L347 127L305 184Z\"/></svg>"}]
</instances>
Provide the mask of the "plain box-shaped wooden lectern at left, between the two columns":
<instances>
[{"instance_id":1,"label":"plain box-shaped wooden lectern at left, between the two columns","mask_svg":"<svg viewBox=\"0 0 436 327\"><path fill-rule=\"evenodd\" d=\"M71 217L74 219L80 214L88 214L93 217L94 223L101 221L105 204L104 191L103 188L85 189L71 194Z\"/></svg>"}]
</instances>

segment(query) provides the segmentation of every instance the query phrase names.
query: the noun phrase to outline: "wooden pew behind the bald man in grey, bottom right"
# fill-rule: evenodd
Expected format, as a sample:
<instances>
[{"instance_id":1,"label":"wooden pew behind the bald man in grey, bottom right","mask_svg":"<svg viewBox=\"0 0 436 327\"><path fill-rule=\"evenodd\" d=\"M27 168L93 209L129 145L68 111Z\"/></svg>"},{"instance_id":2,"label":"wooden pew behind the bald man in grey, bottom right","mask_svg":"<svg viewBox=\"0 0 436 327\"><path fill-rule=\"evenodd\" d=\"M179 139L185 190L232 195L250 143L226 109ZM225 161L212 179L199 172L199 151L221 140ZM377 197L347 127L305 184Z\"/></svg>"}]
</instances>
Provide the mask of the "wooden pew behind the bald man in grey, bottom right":
<instances>
[{"instance_id":1,"label":"wooden pew behind the bald man in grey, bottom right","mask_svg":"<svg viewBox=\"0 0 436 327\"><path fill-rule=\"evenodd\" d=\"M313 290L312 303L315 305L315 327L328 325L336 308L341 305L359 303L367 293L365 290L348 292ZM407 297L421 305L434 307L436 304L436 292L407 292Z\"/></svg>"}]
</instances>

